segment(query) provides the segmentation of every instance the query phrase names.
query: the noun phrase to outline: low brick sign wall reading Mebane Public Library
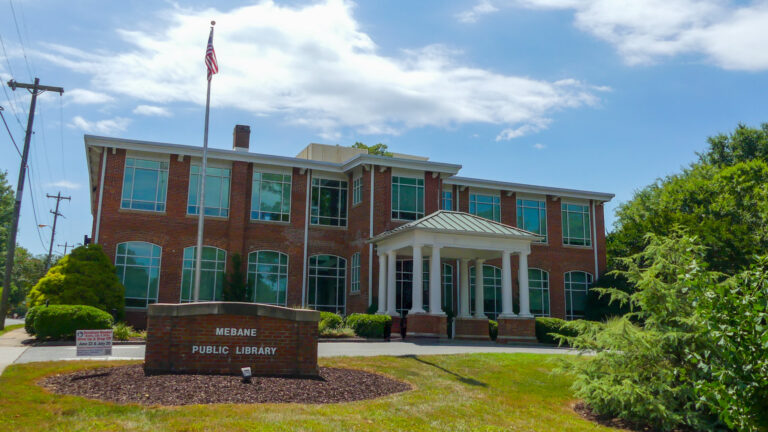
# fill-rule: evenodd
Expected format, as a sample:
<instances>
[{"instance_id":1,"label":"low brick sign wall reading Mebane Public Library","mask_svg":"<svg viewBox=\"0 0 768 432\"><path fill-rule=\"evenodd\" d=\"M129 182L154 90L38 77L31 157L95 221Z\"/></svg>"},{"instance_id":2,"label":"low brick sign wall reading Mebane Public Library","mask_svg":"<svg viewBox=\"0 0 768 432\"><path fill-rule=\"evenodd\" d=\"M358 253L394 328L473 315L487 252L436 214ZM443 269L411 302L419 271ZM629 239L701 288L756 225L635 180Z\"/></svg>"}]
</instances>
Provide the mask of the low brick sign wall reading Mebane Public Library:
<instances>
[{"instance_id":1,"label":"low brick sign wall reading Mebane Public Library","mask_svg":"<svg viewBox=\"0 0 768 432\"><path fill-rule=\"evenodd\" d=\"M320 313L256 303L154 304L148 373L317 376Z\"/></svg>"}]
</instances>

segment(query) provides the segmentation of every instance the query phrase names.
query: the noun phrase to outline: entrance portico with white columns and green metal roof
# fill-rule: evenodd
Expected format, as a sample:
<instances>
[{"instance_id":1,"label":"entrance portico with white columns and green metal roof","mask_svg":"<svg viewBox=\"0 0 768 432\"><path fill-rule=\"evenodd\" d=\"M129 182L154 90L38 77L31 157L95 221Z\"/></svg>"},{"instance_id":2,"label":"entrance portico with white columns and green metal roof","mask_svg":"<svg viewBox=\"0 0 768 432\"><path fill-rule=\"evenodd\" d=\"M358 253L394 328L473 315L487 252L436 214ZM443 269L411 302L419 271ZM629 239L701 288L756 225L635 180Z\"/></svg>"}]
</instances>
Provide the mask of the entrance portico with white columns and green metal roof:
<instances>
[{"instance_id":1,"label":"entrance portico with white columns and green metal roof","mask_svg":"<svg viewBox=\"0 0 768 432\"><path fill-rule=\"evenodd\" d=\"M456 337L488 339L488 317L484 310L483 272L475 271L474 315L470 315L470 264L482 269L483 263L501 259L501 314L499 320L531 320L528 295L528 254L531 241L539 237L516 227L494 222L463 212L437 211L409 222L369 240L379 256L378 312L398 317L396 263L398 257L413 262L411 308L408 313L408 335L446 337L446 315L443 312L442 260L459 260L459 295ZM518 260L520 310L512 308L512 259ZM428 303L424 308L423 262L429 259ZM509 327L509 326L506 326ZM518 327L517 325L512 327ZM501 328L501 323L500 323ZM504 340L510 335L503 335ZM521 335L533 336L533 335ZM502 334L499 334L502 337Z\"/></svg>"}]
</instances>

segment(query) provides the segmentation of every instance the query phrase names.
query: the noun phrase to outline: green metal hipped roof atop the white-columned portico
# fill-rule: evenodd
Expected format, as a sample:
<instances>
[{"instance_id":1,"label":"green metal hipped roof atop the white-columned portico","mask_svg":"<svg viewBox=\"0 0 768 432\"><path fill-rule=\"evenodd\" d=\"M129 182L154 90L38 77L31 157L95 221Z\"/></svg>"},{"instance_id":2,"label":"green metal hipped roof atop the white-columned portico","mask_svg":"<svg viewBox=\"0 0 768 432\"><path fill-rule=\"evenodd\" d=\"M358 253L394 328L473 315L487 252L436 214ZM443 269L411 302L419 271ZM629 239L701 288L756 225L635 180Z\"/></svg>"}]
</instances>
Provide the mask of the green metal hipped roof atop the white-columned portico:
<instances>
[{"instance_id":1,"label":"green metal hipped roof atop the white-columned portico","mask_svg":"<svg viewBox=\"0 0 768 432\"><path fill-rule=\"evenodd\" d=\"M393 230L385 231L370 239L369 242L375 243L398 233L411 230L480 235L485 237L511 237L530 241L536 241L542 237L530 231L505 225L477 215L464 212L438 210L419 220L408 222Z\"/></svg>"}]
</instances>

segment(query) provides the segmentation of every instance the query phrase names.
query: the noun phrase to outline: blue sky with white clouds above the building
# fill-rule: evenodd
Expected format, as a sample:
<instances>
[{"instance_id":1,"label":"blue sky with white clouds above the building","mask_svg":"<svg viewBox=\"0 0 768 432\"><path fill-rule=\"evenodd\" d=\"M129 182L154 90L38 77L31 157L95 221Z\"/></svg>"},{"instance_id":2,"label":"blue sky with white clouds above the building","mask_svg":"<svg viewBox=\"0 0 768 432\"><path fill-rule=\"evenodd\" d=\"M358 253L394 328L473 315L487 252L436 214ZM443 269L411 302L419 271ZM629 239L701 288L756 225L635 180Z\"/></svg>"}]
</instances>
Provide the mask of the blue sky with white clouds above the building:
<instances>
[{"instance_id":1,"label":"blue sky with white clouds above the building","mask_svg":"<svg viewBox=\"0 0 768 432\"><path fill-rule=\"evenodd\" d=\"M19 147L29 95L5 82L64 88L38 98L19 244L47 253L59 191L54 252L90 234L84 134L202 146L211 20L211 147L236 124L258 153L382 142L466 177L614 193L608 230L707 137L768 120L765 1L9 0L0 106Z\"/></svg>"}]
</instances>

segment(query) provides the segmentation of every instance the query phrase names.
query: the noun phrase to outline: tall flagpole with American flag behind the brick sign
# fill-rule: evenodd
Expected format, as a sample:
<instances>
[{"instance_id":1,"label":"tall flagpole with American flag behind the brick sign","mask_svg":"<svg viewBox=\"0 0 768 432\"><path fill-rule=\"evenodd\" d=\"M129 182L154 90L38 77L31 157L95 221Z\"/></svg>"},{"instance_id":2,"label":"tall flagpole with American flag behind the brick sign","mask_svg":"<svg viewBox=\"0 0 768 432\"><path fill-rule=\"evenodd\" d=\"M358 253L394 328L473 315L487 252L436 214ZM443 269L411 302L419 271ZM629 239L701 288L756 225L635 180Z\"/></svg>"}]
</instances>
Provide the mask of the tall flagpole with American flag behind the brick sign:
<instances>
[{"instance_id":1,"label":"tall flagpole with American flag behind the brick sign","mask_svg":"<svg viewBox=\"0 0 768 432\"><path fill-rule=\"evenodd\" d=\"M208 173L208 114L211 108L211 78L219 73L219 64L216 61L216 51L213 50L213 26L216 21L211 21L211 34L208 36L208 48L205 50L205 67L208 69L208 92L205 97L205 129L203 132L203 160L200 169L200 181L197 189L197 247L195 254L195 284L192 288L192 301L200 301L200 265L203 260L203 225L205 220L205 177ZM215 301L214 290L211 290L211 298Z\"/></svg>"}]
</instances>

